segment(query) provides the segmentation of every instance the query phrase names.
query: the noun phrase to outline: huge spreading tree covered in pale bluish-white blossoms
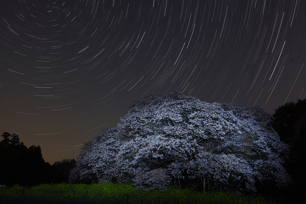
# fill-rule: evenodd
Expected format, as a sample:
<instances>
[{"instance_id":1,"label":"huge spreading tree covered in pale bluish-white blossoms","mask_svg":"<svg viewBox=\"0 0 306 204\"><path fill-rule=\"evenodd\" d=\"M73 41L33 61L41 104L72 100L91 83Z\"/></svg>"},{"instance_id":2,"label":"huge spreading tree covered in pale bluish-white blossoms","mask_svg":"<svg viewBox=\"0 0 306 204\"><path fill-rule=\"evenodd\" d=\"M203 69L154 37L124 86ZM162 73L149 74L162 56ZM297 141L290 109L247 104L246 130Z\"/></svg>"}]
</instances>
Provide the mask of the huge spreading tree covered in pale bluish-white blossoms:
<instances>
[{"instance_id":1,"label":"huge spreading tree covered in pale bluish-white blossoms","mask_svg":"<svg viewBox=\"0 0 306 204\"><path fill-rule=\"evenodd\" d=\"M203 183L256 191L256 180L285 186L288 152L256 107L209 104L180 92L147 96L117 127L84 144L70 182L131 182L142 189Z\"/></svg>"}]
</instances>

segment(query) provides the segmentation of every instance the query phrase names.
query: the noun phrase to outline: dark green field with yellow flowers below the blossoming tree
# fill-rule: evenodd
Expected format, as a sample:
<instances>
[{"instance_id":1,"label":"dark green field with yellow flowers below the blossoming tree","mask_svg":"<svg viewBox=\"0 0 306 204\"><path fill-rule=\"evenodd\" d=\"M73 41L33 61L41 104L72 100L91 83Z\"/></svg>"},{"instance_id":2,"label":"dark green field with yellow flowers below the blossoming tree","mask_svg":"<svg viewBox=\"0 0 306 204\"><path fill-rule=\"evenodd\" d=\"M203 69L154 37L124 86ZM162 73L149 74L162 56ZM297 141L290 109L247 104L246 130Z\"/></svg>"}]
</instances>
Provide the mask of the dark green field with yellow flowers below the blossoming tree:
<instances>
[{"instance_id":1,"label":"dark green field with yellow flowers below the blossoming tree","mask_svg":"<svg viewBox=\"0 0 306 204\"><path fill-rule=\"evenodd\" d=\"M35 187L0 188L0 203L143 203L143 204L271 204L262 197L248 198L233 192L197 192L168 187L166 191L140 191L130 184L40 184Z\"/></svg>"}]
</instances>

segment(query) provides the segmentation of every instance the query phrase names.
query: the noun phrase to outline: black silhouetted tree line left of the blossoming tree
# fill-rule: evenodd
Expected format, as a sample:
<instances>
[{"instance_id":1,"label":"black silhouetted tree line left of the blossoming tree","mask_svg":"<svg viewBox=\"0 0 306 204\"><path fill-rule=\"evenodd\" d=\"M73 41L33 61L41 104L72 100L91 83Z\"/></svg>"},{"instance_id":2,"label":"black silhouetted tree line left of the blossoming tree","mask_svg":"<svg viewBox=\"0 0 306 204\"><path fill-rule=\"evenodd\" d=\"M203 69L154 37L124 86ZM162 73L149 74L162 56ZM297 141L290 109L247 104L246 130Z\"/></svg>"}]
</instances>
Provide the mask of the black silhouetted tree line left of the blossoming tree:
<instances>
[{"instance_id":1,"label":"black silhouetted tree line left of the blossoming tree","mask_svg":"<svg viewBox=\"0 0 306 204\"><path fill-rule=\"evenodd\" d=\"M19 141L17 134L4 132L0 142L0 184L35 186L40 183L68 182L74 159L63 159L50 165L45 162L40 146L29 148Z\"/></svg>"}]
</instances>

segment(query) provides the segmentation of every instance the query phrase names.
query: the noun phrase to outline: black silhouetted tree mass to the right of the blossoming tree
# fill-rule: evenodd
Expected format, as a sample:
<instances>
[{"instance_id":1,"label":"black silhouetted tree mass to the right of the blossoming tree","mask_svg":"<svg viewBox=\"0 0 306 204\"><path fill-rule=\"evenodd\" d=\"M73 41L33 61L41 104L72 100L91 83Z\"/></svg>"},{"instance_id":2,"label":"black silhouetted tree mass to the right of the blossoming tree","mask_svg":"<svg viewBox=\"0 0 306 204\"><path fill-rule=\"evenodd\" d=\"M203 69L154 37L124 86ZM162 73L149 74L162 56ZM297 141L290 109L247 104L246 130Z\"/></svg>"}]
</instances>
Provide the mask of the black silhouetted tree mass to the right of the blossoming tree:
<instances>
[{"instance_id":1,"label":"black silhouetted tree mass to the right of the blossoming tree","mask_svg":"<svg viewBox=\"0 0 306 204\"><path fill-rule=\"evenodd\" d=\"M285 191L276 190L273 183L267 182L261 193L266 196L282 196L302 198L306 191L305 178L305 144L306 144L306 99L298 99L296 103L288 102L273 114L272 127L278 132L280 139L288 144L289 157L284 167L293 180Z\"/></svg>"}]
</instances>

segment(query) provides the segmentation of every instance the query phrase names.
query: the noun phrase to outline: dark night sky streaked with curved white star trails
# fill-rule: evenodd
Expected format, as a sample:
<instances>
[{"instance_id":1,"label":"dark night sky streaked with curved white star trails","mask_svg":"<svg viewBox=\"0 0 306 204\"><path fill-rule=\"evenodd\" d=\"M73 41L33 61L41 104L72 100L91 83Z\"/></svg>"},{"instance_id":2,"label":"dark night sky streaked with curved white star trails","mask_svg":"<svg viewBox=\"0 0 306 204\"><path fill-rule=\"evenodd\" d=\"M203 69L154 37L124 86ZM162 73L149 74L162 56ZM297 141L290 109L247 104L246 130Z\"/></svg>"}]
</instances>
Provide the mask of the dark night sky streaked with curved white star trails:
<instances>
[{"instance_id":1,"label":"dark night sky streaked with curved white star trails","mask_svg":"<svg viewBox=\"0 0 306 204\"><path fill-rule=\"evenodd\" d=\"M0 132L53 164L150 94L273 114L306 94L305 10L303 0L1 1Z\"/></svg>"}]
</instances>

